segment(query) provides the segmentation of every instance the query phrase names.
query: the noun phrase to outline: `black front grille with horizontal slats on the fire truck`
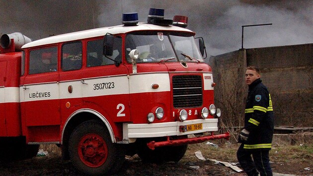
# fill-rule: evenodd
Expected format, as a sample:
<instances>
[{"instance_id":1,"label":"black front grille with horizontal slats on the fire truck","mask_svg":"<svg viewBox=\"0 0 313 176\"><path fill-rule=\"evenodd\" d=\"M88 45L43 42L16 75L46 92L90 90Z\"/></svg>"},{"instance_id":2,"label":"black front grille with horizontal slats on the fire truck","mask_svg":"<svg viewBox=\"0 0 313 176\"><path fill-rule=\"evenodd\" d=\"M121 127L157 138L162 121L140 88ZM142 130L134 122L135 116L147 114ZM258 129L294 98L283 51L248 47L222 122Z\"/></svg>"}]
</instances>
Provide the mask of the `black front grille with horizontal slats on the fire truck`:
<instances>
[{"instance_id":1,"label":"black front grille with horizontal slats on the fire truck","mask_svg":"<svg viewBox=\"0 0 313 176\"><path fill-rule=\"evenodd\" d=\"M174 108L202 105L202 77L199 75L173 76Z\"/></svg>"}]
</instances>

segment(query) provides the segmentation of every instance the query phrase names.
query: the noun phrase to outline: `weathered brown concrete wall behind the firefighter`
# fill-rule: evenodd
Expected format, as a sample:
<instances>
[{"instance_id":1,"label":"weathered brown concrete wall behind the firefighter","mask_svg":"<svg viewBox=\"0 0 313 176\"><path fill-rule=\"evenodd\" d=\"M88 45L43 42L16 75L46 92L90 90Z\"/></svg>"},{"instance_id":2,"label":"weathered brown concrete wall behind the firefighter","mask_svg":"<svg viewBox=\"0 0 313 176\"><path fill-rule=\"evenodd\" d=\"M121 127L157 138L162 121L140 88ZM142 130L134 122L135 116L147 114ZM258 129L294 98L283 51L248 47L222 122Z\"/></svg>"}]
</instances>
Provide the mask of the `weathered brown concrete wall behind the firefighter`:
<instances>
[{"instance_id":1,"label":"weathered brown concrete wall behind the firefighter","mask_svg":"<svg viewBox=\"0 0 313 176\"><path fill-rule=\"evenodd\" d=\"M275 125L313 127L313 44L240 49L211 56L215 102L222 123L242 126L246 66L261 69L273 101Z\"/></svg>"}]
</instances>

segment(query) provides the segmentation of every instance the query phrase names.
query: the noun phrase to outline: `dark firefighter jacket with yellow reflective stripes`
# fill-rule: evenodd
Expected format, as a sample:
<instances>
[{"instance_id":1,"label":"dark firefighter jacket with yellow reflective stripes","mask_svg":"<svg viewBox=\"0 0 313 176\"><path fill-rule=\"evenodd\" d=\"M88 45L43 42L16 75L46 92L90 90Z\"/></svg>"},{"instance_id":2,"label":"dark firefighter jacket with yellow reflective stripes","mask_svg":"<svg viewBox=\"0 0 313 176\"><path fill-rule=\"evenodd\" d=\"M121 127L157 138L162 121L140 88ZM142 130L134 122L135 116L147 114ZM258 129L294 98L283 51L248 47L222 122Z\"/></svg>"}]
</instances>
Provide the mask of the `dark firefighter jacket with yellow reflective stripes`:
<instances>
[{"instance_id":1,"label":"dark firefighter jacket with yellow reflective stripes","mask_svg":"<svg viewBox=\"0 0 313 176\"><path fill-rule=\"evenodd\" d=\"M249 131L244 149L270 150L274 132L274 113L271 95L261 79L249 85L244 115L244 129ZM240 141L239 141L240 142Z\"/></svg>"}]
</instances>

